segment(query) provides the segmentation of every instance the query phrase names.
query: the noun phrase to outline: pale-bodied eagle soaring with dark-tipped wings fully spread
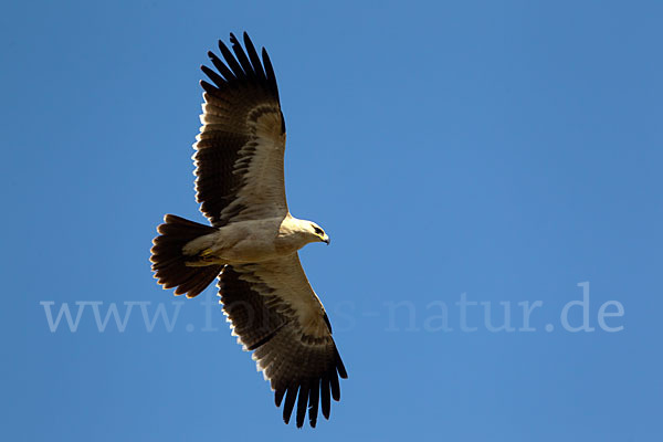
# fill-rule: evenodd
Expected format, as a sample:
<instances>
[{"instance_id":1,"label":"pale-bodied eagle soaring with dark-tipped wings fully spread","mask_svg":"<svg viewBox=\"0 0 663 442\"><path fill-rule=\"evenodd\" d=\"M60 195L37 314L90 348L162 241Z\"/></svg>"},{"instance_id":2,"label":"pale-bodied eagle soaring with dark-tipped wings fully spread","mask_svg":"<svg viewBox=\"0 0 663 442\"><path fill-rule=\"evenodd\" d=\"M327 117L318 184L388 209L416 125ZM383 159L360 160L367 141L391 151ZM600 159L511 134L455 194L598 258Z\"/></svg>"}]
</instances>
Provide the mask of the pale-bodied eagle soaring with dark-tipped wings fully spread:
<instances>
[{"instance_id":1,"label":"pale-bodied eagle soaring with dark-tipped wings fully spread","mask_svg":"<svg viewBox=\"0 0 663 442\"><path fill-rule=\"evenodd\" d=\"M219 41L215 71L201 66L202 127L193 144L196 200L211 225L167 214L152 240L151 269L164 288L194 297L218 278L220 303L232 334L253 351L257 369L283 403L287 424L315 428L318 404L329 419L347 371L332 325L313 291L298 250L329 244L315 222L293 217L283 172L285 119L270 56L259 56L230 34Z\"/></svg>"}]
</instances>

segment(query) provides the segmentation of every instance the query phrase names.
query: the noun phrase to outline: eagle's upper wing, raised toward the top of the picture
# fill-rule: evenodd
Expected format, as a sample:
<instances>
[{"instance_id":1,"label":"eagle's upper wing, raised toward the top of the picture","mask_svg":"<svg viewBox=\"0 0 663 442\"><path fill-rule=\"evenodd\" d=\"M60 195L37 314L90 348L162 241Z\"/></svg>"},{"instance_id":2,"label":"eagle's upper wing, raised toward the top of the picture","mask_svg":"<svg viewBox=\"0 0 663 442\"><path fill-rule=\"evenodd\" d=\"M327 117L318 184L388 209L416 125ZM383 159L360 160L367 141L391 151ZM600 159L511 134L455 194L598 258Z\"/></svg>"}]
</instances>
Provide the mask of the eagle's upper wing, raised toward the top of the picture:
<instances>
[{"instance_id":1,"label":"eagle's upper wing, raised toward the top of the picture","mask_svg":"<svg viewBox=\"0 0 663 442\"><path fill-rule=\"evenodd\" d=\"M215 228L287 213L285 122L272 62L264 49L261 62L245 32L245 51L233 34L230 42L232 52L219 41L223 61L208 53L218 72L201 67L213 84L200 82L203 126L193 145L196 200Z\"/></svg>"}]
</instances>

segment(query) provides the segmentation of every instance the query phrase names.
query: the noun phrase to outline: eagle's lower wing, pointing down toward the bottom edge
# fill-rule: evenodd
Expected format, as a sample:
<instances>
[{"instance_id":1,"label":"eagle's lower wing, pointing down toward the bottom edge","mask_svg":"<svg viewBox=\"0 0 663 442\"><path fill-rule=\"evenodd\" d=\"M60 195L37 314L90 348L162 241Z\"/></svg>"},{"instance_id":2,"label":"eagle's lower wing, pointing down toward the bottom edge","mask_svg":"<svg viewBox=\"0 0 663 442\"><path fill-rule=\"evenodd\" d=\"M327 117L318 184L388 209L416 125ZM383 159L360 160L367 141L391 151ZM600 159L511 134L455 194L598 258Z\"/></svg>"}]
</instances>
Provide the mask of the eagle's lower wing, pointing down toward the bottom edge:
<instances>
[{"instance_id":1,"label":"eagle's lower wing, pointing down toward the bottom edge","mask_svg":"<svg viewBox=\"0 0 663 442\"><path fill-rule=\"evenodd\" d=\"M275 391L276 407L285 397L285 423L295 401L297 427L304 424L307 408L311 427L315 427L318 402L329 419L330 398L340 400L338 377L348 375L298 254L227 265L219 288L233 335L245 350L254 350L257 368Z\"/></svg>"}]
</instances>

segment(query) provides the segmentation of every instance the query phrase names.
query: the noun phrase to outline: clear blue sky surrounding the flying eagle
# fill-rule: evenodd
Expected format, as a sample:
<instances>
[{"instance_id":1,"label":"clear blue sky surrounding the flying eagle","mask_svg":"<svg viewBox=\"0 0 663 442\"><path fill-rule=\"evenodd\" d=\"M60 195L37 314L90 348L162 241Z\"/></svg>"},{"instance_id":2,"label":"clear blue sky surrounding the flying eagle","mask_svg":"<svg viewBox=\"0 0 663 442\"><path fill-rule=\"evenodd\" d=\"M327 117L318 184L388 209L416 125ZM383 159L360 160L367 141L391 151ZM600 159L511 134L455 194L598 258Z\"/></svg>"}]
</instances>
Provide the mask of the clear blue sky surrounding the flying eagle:
<instances>
[{"instance_id":1,"label":"clear blue sky surrounding the flying eagle","mask_svg":"<svg viewBox=\"0 0 663 442\"><path fill-rule=\"evenodd\" d=\"M316 3L4 4L2 440L663 439L662 3ZM333 239L302 256L349 379L313 431L213 288L149 269L164 213L202 221L199 65L244 30Z\"/></svg>"}]
</instances>

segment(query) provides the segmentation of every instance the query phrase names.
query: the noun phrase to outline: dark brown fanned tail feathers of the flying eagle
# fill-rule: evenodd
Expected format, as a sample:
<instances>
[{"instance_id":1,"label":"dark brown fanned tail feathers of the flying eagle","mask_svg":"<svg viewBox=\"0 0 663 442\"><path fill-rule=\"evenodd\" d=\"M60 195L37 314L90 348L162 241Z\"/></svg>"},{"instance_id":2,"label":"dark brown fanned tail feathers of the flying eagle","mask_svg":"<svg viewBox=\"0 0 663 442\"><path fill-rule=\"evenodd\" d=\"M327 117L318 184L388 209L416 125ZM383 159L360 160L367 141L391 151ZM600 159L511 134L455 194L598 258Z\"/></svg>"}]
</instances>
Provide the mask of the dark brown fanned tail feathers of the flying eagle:
<instances>
[{"instance_id":1,"label":"dark brown fanned tail feathers of the flying eagle","mask_svg":"<svg viewBox=\"0 0 663 442\"><path fill-rule=\"evenodd\" d=\"M175 290L176 295L193 297L200 294L221 273L223 265L189 266L190 256L182 248L196 238L213 233L217 229L186 220L173 214L164 217L164 224L157 228L159 236L152 240L152 271L164 288Z\"/></svg>"}]
</instances>

